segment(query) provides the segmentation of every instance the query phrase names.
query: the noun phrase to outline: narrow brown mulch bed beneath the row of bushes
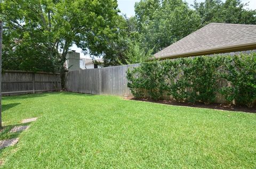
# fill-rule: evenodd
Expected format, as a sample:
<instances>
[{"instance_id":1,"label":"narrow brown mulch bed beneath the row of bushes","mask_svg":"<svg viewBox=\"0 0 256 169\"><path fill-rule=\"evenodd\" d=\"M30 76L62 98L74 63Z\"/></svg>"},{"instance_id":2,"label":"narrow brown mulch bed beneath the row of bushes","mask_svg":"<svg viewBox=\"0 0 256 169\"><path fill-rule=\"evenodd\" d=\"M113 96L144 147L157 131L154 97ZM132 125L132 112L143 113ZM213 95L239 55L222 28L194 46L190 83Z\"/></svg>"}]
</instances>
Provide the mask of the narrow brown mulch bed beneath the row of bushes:
<instances>
[{"instance_id":1,"label":"narrow brown mulch bed beneath the row of bushes","mask_svg":"<svg viewBox=\"0 0 256 169\"><path fill-rule=\"evenodd\" d=\"M228 105L228 104L218 104L212 103L210 105L205 105L203 103L183 103L183 102L175 102L173 100L151 100L151 99L137 99L134 97L125 97L124 99L129 100L138 100L142 102L152 102L166 105L174 105L174 106L185 106L185 107L197 107L197 108L210 108L210 109L218 109L223 111L234 111L234 112L246 112L246 113L256 113L256 108L249 108L247 106L241 105Z\"/></svg>"}]
</instances>

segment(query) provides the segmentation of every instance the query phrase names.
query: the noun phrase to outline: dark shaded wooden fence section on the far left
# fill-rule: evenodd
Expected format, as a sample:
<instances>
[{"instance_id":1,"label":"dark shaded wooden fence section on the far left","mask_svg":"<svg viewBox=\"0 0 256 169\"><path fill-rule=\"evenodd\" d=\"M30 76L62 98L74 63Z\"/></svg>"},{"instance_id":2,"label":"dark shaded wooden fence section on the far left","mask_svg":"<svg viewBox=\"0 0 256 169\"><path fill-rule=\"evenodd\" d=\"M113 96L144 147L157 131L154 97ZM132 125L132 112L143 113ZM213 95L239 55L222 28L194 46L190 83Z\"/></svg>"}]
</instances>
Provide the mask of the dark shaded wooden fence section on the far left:
<instances>
[{"instance_id":1,"label":"dark shaded wooden fence section on the far left","mask_svg":"<svg viewBox=\"0 0 256 169\"><path fill-rule=\"evenodd\" d=\"M22 95L61 89L59 73L3 71L2 95Z\"/></svg>"}]
</instances>

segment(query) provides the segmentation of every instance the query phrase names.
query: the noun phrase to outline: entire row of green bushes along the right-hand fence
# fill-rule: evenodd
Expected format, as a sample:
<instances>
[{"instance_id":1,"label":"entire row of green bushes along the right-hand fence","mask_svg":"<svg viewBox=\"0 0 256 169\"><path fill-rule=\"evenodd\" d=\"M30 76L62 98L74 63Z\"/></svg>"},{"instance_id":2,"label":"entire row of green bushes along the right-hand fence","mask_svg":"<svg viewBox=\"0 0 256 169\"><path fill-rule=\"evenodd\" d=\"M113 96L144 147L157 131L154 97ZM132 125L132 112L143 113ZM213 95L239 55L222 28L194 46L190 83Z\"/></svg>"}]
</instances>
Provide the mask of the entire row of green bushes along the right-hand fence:
<instances>
[{"instance_id":1,"label":"entire row of green bushes along the right-hand fence","mask_svg":"<svg viewBox=\"0 0 256 169\"><path fill-rule=\"evenodd\" d=\"M178 102L226 102L253 107L256 102L256 53L198 56L142 63L127 72L134 97Z\"/></svg>"}]
</instances>

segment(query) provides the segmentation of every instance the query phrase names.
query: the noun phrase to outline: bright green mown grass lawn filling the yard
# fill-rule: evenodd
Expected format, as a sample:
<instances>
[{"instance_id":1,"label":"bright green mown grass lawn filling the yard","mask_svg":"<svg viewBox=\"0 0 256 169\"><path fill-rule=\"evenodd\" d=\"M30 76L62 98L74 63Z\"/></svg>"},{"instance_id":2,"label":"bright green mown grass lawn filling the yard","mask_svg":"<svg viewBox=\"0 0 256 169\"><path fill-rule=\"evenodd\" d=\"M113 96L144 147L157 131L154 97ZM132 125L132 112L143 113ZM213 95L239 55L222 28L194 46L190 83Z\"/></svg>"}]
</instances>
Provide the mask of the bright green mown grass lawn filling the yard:
<instances>
[{"instance_id":1,"label":"bright green mown grass lawn filling the yard","mask_svg":"<svg viewBox=\"0 0 256 169\"><path fill-rule=\"evenodd\" d=\"M3 168L255 168L256 114L55 92L3 98ZM22 119L39 117L10 134Z\"/></svg>"}]
</instances>

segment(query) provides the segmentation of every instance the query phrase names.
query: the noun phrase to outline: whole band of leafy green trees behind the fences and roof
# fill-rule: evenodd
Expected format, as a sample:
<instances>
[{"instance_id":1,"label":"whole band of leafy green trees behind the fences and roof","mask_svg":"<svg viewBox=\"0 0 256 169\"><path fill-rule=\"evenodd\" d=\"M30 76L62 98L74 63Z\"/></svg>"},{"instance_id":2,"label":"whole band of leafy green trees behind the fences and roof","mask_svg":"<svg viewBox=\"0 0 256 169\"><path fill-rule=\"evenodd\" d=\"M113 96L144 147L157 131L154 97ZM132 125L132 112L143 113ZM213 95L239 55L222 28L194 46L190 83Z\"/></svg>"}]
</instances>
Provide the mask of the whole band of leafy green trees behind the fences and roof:
<instances>
[{"instance_id":1,"label":"whole band of leafy green trees behind the fences and roof","mask_svg":"<svg viewBox=\"0 0 256 169\"><path fill-rule=\"evenodd\" d=\"M3 69L65 72L76 44L104 66L139 63L210 22L256 24L241 0L141 0L135 16L116 0L0 0Z\"/></svg>"}]
</instances>

